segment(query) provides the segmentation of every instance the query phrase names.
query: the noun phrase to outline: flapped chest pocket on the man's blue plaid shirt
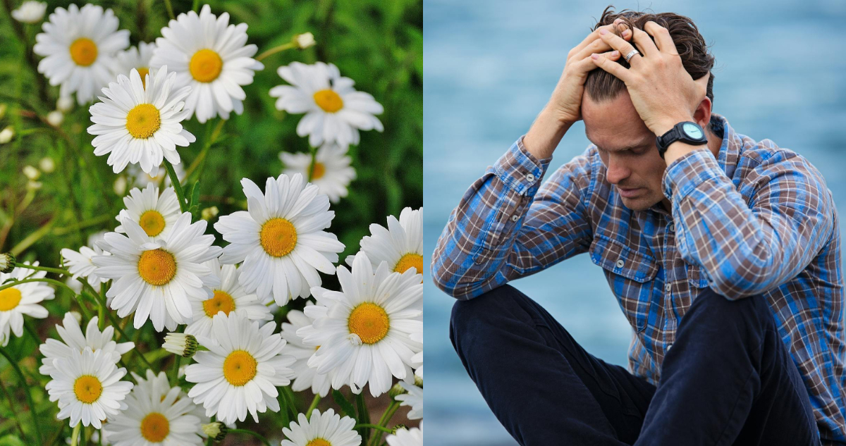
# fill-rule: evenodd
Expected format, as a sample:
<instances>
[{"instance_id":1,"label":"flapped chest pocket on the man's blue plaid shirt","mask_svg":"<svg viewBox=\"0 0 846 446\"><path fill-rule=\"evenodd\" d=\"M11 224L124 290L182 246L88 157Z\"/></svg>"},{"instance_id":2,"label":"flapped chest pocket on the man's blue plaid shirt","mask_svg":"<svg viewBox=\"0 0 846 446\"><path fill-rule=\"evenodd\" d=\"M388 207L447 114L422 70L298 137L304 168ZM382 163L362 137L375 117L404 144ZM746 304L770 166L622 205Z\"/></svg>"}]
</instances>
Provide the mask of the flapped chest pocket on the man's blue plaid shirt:
<instances>
[{"instance_id":1,"label":"flapped chest pocket on the man's blue plaid shirt","mask_svg":"<svg viewBox=\"0 0 846 446\"><path fill-rule=\"evenodd\" d=\"M640 333L649 318L653 280L658 273L656 259L603 234L594 235L590 253L591 261L605 269L608 285L629 324Z\"/></svg>"}]
</instances>

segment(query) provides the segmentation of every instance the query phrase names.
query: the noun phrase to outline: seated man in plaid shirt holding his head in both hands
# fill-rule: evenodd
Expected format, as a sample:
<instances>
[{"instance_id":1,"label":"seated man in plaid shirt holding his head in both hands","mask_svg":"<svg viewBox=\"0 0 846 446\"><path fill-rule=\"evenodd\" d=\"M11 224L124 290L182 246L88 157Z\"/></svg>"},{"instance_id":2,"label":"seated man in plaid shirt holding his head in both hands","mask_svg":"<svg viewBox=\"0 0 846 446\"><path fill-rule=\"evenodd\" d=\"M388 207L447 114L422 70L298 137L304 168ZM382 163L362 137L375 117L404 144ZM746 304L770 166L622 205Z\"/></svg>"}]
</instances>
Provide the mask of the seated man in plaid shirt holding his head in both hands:
<instances>
[{"instance_id":1,"label":"seated man in plaid shirt holding his head in both hands","mask_svg":"<svg viewBox=\"0 0 846 446\"><path fill-rule=\"evenodd\" d=\"M711 112L713 65L687 17L606 9L450 215L431 266L450 339L520 444L846 444L831 192ZM582 119L593 144L541 185ZM506 285L579 253L634 329L629 370Z\"/></svg>"}]
</instances>

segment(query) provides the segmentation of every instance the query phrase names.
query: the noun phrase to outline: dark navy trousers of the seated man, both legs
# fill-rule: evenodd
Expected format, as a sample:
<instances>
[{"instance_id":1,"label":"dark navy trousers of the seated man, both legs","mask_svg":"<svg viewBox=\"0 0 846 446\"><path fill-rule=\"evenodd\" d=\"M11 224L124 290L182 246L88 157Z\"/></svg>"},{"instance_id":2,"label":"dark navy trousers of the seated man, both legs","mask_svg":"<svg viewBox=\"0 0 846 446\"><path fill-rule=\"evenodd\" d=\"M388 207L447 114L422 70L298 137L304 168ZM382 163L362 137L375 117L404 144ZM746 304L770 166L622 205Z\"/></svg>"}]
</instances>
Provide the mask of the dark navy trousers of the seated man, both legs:
<instances>
[{"instance_id":1,"label":"dark navy trousers of the seated man, both legs","mask_svg":"<svg viewBox=\"0 0 846 446\"><path fill-rule=\"evenodd\" d=\"M455 302L449 337L521 445L820 444L764 296L695 296L657 387L585 351L513 286Z\"/></svg>"}]
</instances>

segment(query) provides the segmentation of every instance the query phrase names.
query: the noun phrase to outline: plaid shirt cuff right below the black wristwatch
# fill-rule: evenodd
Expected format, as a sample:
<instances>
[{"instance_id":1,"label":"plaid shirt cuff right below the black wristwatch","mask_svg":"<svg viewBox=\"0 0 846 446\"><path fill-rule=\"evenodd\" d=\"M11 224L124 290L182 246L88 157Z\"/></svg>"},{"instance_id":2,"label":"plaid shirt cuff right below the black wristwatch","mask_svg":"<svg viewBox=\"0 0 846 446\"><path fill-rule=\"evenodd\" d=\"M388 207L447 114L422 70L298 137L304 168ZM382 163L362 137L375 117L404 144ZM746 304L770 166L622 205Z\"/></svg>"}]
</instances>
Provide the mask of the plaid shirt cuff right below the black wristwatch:
<instances>
[{"instance_id":1,"label":"plaid shirt cuff right below the black wristwatch","mask_svg":"<svg viewBox=\"0 0 846 446\"><path fill-rule=\"evenodd\" d=\"M725 175L711 150L697 149L673 160L664 171L662 185L664 195L673 200L683 199L701 183Z\"/></svg>"}]
</instances>

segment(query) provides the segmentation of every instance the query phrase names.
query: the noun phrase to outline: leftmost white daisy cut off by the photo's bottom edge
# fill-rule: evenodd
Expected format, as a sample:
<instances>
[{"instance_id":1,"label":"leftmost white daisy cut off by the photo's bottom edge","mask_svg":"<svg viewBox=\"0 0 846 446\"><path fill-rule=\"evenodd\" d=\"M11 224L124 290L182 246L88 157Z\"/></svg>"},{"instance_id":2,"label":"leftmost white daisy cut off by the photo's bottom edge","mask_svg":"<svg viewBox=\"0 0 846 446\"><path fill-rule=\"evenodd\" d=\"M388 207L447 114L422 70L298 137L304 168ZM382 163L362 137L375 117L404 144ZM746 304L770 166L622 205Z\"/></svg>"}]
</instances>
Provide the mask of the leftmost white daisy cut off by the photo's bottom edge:
<instances>
[{"instance_id":1,"label":"leftmost white daisy cut off by the photo's bottom edge","mask_svg":"<svg viewBox=\"0 0 846 446\"><path fill-rule=\"evenodd\" d=\"M147 370L146 379L133 373L138 382L126 397L129 408L113 417L104 430L113 446L201 446L205 436L202 423L208 422L202 408L186 398L179 388L170 387L164 372Z\"/></svg>"}]
</instances>

